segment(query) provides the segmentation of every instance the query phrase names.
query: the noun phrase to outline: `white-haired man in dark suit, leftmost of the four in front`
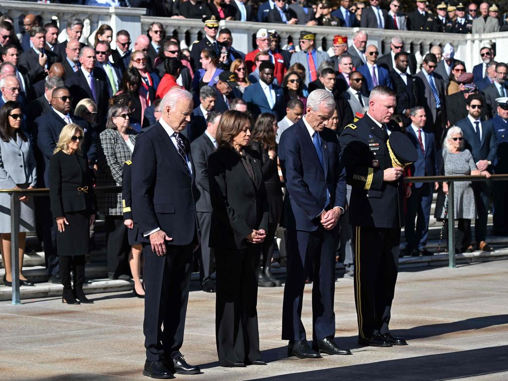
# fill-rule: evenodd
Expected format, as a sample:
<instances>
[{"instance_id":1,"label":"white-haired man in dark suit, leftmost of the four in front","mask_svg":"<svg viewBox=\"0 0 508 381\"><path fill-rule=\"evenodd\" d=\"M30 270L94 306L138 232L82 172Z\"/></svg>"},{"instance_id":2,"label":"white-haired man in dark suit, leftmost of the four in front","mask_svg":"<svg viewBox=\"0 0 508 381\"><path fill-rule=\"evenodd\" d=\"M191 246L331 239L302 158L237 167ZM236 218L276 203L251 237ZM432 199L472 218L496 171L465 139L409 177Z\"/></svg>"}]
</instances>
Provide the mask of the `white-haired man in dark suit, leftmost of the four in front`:
<instances>
[{"instance_id":1,"label":"white-haired man in dark suit, leftmost of the four in front","mask_svg":"<svg viewBox=\"0 0 508 381\"><path fill-rule=\"evenodd\" d=\"M192 114L192 94L180 88L168 91L161 110L161 119L139 136L134 148L132 207L145 256L143 374L172 378L173 373L200 372L180 353L193 252L199 245L196 168L181 135Z\"/></svg>"}]
</instances>

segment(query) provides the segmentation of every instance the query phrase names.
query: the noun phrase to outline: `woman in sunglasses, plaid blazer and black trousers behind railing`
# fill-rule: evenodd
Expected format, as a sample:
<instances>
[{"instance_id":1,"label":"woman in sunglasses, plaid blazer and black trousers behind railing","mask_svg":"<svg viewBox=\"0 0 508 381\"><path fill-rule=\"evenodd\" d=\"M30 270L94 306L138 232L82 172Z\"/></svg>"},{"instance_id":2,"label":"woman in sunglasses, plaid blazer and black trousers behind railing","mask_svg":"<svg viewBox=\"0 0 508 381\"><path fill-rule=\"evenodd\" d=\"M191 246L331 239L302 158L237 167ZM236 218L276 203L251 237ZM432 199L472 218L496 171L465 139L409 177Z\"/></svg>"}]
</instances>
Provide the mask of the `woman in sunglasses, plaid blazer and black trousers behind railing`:
<instances>
[{"instance_id":1,"label":"woman in sunglasses, plaid blazer and black trousers behind railing","mask_svg":"<svg viewBox=\"0 0 508 381\"><path fill-rule=\"evenodd\" d=\"M114 105L108 111L106 130L100 135L97 185L122 185L125 162L130 161L137 132L130 126L129 107ZM98 195L99 210L105 215L108 276L130 279L127 258L130 252L127 227L123 224L121 193Z\"/></svg>"}]
</instances>

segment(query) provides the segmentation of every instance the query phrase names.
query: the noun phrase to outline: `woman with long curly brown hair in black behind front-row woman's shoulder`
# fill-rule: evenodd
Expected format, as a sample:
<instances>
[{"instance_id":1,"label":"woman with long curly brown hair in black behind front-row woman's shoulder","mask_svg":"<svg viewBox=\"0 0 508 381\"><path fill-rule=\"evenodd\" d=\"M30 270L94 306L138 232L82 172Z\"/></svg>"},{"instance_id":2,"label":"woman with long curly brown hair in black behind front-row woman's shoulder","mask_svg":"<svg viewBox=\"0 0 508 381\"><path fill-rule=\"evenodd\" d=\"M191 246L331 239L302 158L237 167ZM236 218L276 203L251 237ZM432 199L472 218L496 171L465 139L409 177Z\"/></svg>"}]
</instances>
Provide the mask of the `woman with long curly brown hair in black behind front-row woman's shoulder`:
<instances>
[{"instance_id":1,"label":"woman with long curly brown hair in black behind front-row woman's shoulder","mask_svg":"<svg viewBox=\"0 0 508 381\"><path fill-rule=\"evenodd\" d=\"M277 170L277 143L275 142L277 128L275 115L267 112L261 114L256 119L249 143L249 146L258 151L261 156L263 181L265 182L270 210L268 231L265 241L262 243L263 259L258 279L260 287L282 285L282 282L272 275L270 267L273 257L273 239L282 213L282 188L280 187L280 177Z\"/></svg>"}]
</instances>

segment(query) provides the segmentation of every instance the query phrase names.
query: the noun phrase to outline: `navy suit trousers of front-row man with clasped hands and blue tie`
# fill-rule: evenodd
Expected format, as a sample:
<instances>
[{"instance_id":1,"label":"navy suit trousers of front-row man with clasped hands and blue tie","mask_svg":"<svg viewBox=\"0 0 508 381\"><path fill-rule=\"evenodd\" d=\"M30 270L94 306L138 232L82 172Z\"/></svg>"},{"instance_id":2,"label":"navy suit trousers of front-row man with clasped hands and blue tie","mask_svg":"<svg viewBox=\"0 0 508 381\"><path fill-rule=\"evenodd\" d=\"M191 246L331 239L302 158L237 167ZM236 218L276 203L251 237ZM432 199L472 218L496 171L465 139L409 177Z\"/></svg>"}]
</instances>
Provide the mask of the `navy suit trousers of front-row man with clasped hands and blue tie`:
<instances>
[{"instance_id":1,"label":"navy suit trousers of front-row man with clasped hands and blue tie","mask_svg":"<svg viewBox=\"0 0 508 381\"><path fill-rule=\"evenodd\" d=\"M335 336L335 253L339 227L313 232L288 229L288 265L282 303L282 340L306 339L302 323L305 280L312 276L312 339Z\"/></svg>"}]
</instances>

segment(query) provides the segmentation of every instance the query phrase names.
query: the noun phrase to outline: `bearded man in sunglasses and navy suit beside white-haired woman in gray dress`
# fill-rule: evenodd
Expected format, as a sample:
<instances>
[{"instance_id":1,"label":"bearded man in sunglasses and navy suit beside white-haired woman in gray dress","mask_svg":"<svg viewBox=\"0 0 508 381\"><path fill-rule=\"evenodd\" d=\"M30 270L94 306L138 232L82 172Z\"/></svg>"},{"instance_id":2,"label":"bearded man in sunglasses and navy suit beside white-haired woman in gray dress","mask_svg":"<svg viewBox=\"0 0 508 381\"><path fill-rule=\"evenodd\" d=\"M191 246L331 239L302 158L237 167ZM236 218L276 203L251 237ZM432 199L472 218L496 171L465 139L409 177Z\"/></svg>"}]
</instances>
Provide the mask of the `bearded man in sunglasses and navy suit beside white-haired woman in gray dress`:
<instances>
[{"instance_id":1,"label":"bearded man in sunglasses and navy suit beside white-haired woman in gray dress","mask_svg":"<svg viewBox=\"0 0 508 381\"><path fill-rule=\"evenodd\" d=\"M464 134L465 148L471 151L474 162L480 171L492 173L492 162L496 158L497 139L490 120L481 120L480 114L484 107L480 94L469 96L466 101L468 115L457 122ZM487 218L490 203L490 182L473 182L474 202L478 210L478 218L474 222L474 236L477 250L494 251L485 241L487 237Z\"/></svg>"}]
</instances>

